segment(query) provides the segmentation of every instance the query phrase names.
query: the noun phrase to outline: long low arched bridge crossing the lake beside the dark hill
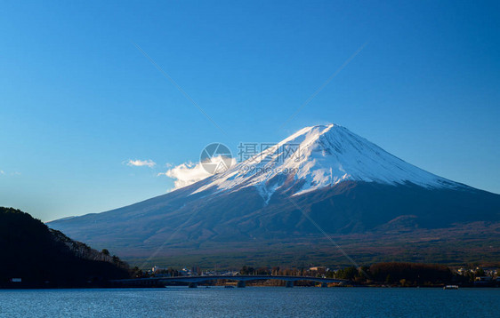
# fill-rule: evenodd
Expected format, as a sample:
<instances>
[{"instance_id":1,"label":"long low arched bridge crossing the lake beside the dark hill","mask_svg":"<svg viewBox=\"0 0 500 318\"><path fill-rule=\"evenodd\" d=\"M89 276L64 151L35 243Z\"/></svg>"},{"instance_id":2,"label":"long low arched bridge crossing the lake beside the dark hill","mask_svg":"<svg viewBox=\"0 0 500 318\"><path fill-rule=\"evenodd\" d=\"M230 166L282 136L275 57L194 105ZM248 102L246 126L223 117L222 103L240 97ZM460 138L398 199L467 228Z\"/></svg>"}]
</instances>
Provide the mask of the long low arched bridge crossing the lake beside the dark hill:
<instances>
[{"instance_id":1,"label":"long low arched bridge crossing the lake beside the dark hill","mask_svg":"<svg viewBox=\"0 0 500 318\"><path fill-rule=\"evenodd\" d=\"M162 276L162 277L150 277L150 278L133 278L133 279L122 279L111 281L115 284L123 284L127 286L159 286L165 284L166 282L187 282L190 287L198 287L200 282L208 282L215 280L228 280L238 282L238 287L245 287L248 281L267 281L267 280L278 280L285 281L286 287L294 287L294 282L297 281L310 281L310 282L320 282L321 287L327 287L329 282L342 282L349 283L346 280L334 279L334 278L323 278L323 277L313 277L313 276L281 276L281 275L205 275L205 276Z\"/></svg>"}]
</instances>

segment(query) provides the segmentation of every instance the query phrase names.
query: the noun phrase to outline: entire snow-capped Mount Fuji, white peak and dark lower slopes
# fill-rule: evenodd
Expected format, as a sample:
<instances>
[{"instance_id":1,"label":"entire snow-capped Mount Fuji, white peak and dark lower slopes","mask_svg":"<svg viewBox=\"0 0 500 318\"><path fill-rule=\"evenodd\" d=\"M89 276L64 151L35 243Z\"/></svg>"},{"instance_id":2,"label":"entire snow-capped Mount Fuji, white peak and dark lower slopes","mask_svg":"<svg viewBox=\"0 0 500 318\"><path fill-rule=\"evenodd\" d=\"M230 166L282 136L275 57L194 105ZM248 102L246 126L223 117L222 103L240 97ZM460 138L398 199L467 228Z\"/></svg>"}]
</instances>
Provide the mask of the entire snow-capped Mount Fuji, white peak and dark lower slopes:
<instances>
[{"instance_id":1,"label":"entire snow-capped Mount Fuji, white peak and dark lower slopes","mask_svg":"<svg viewBox=\"0 0 500 318\"><path fill-rule=\"evenodd\" d=\"M329 124L166 195L48 226L157 264L342 262L325 235L361 261L453 262L498 257L500 195Z\"/></svg>"}]
</instances>

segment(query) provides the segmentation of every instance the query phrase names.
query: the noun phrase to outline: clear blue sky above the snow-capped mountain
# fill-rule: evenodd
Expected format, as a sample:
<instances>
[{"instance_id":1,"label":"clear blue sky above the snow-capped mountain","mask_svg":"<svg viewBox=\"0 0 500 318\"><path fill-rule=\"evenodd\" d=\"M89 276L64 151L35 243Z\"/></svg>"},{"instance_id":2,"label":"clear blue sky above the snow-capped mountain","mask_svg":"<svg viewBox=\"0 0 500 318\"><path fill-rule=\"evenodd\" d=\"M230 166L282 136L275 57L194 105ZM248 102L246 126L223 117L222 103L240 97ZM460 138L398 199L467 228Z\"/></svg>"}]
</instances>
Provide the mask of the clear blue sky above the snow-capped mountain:
<instances>
[{"instance_id":1,"label":"clear blue sky above the snow-capped mountain","mask_svg":"<svg viewBox=\"0 0 500 318\"><path fill-rule=\"evenodd\" d=\"M0 205L44 221L165 194L158 173L211 142L236 152L319 123L500 193L499 120L497 1L0 8Z\"/></svg>"}]
</instances>

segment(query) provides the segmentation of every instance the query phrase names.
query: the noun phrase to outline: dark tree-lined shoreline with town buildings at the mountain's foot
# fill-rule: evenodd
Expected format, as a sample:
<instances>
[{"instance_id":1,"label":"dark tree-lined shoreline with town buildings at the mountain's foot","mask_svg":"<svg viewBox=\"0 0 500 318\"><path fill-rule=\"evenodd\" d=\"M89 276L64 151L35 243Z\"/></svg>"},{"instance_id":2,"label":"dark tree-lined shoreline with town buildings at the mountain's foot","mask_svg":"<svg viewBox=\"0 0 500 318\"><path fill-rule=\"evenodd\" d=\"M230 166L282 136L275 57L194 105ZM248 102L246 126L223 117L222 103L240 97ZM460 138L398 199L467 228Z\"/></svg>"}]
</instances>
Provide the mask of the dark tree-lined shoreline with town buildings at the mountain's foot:
<instances>
[{"instance_id":1,"label":"dark tree-lined shoreline with town buildings at the mountain's foot","mask_svg":"<svg viewBox=\"0 0 500 318\"><path fill-rule=\"evenodd\" d=\"M463 287L499 287L500 268L497 266L457 266L448 267L421 263L377 263L372 266L355 266L332 269L327 266L310 266L309 268L281 268L243 266L239 270L202 269L200 266L185 266L181 269L173 267L153 266L141 271L135 267L134 278L161 277L195 277L195 276L227 276L228 279L207 284L232 284L231 276L302 276L318 278L335 278L344 282L332 282L334 286L385 286L385 287L439 287L453 283ZM349 283L346 283L349 282ZM256 279L254 285L284 285L284 282L263 282ZM311 286L314 282L295 282L296 285Z\"/></svg>"}]
</instances>

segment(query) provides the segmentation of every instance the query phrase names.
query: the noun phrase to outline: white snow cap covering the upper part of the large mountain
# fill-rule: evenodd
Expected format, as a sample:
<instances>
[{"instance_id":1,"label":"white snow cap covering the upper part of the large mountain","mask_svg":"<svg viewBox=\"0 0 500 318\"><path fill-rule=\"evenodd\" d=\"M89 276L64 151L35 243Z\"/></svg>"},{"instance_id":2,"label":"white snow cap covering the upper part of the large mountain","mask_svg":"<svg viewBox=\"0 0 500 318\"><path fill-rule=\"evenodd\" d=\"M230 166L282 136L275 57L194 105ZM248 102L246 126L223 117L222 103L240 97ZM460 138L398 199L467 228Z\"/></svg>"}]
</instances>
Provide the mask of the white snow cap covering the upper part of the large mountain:
<instances>
[{"instance_id":1,"label":"white snow cap covering the upper part of the large mountain","mask_svg":"<svg viewBox=\"0 0 500 318\"><path fill-rule=\"evenodd\" d=\"M261 154L207 179L193 194L209 188L221 192L254 186L268 202L275 191L286 190L285 187L299 182L302 187L292 195L302 195L345 180L462 187L404 162L340 125L328 124L297 131Z\"/></svg>"}]
</instances>

